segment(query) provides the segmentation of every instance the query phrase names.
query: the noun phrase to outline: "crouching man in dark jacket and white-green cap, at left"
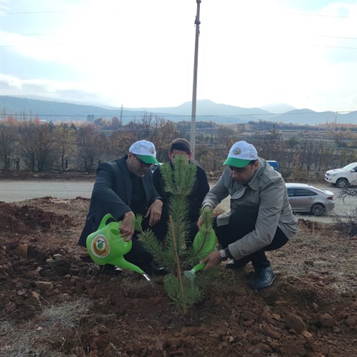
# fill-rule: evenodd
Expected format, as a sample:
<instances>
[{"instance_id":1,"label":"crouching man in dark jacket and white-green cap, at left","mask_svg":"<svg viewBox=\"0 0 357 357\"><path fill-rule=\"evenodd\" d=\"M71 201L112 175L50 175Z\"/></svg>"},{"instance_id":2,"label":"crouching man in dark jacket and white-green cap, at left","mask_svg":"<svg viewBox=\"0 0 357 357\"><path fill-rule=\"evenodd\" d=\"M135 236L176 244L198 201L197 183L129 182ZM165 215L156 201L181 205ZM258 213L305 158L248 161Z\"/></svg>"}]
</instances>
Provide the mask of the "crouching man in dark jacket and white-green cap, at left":
<instances>
[{"instance_id":1,"label":"crouching man in dark jacket and white-green cap, at left","mask_svg":"<svg viewBox=\"0 0 357 357\"><path fill-rule=\"evenodd\" d=\"M86 247L86 238L99 228L101 219L111 213L118 221L124 241L132 241L131 251L124 258L144 271L161 273L152 263L151 254L144 249L134 232L134 216L144 216L143 229L154 226L161 218L161 197L157 193L151 174L151 165L159 164L156 149L150 141L136 141L129 154L98 166L96 182L91 194L89 213L79 238L79 245ZM118 271L106 264L104 273Z\"/></svg>"}]
</instances>

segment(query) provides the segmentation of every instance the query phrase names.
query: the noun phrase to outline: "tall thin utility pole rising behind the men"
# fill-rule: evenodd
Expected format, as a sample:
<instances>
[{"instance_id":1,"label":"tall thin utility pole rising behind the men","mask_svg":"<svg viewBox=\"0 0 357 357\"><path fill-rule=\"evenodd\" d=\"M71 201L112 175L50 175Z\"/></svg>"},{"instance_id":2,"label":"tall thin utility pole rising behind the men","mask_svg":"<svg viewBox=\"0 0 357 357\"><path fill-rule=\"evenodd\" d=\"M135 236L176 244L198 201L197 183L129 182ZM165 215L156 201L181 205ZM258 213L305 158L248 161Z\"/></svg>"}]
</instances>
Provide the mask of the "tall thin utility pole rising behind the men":
<instances>
[{"instance_id":1,"label":"tall thin utility pole rising behind the men","mask_svg":"<svg viewBox=\"0 0 357 357\"><path fill-rule=\"evenodd\" d=\"M193 91L192 91L192 114L191 114L191 150L192 160L195 159L195 146L196 146L196 100L197 100L197 66L198 66L198 36L200 34L200 4L201 0L196 0L197 13L196 13L196 41L195 41L195 59L193 65Z\"/></svg>"}]
</instances>

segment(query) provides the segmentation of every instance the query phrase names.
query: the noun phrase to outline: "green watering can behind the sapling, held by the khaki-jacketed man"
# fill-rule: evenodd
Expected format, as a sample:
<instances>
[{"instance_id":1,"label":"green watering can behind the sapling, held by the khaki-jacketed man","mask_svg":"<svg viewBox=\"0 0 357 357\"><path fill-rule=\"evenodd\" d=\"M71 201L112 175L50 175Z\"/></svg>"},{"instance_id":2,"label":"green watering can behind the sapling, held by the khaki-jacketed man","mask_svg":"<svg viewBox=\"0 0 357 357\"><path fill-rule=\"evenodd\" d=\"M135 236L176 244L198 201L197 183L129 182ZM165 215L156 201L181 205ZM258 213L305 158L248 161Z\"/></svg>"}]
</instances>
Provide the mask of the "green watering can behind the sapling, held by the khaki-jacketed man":
<instances>
[{"instance_id":1,"label":"green watering can behind the sapling, held by the khaki-jacketed man","mask_svg":"<svg viewBox=\"0 0 357 357\"><path fill-rule=\"evenodd\" d=\"M203 229L198 231L196 234L194 240L193 240L193 251L198 253L198 258L206 258L209 253L214 251L216 248L216 233L213 231L211 228L210 231L208 231L206 235L206 239L204 236L204 231L205 228L204 226L202 227ZM206 263L198 263L196 266L193 266L191 270L186 270L183 272L183 275L186 276L186 278L189 278L193 280L195 278L197 271L202 270L206 266Z\"/></svg>"}]
</instances>

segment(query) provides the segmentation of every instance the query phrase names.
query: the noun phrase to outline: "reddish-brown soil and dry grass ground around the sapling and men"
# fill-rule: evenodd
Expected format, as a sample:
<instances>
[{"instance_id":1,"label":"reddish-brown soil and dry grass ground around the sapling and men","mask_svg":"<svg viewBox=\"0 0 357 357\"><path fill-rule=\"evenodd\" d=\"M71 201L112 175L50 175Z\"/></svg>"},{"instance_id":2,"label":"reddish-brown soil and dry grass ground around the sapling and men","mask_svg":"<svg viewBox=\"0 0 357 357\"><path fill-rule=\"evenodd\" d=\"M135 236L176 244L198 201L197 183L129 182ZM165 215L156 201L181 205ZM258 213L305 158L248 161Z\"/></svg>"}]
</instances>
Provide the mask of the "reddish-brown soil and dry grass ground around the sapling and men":
<instances>
[{"instance_id":1,"label":"reddish-brown soil and dry grass ground around the sapling and men","mask_svg":"<svg viewBox=\"0 0 357 357\"><path fill-rule=\"evenodd\" d=\"M0 202L0 356L357 356L357 237L299 220L269 253L276 281L251 266L212 281L178 313L162 277L106 276L77 245L89 199Z\"/></svg>"}]
</instances>

